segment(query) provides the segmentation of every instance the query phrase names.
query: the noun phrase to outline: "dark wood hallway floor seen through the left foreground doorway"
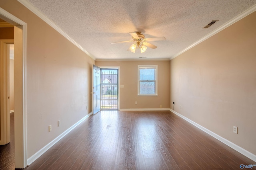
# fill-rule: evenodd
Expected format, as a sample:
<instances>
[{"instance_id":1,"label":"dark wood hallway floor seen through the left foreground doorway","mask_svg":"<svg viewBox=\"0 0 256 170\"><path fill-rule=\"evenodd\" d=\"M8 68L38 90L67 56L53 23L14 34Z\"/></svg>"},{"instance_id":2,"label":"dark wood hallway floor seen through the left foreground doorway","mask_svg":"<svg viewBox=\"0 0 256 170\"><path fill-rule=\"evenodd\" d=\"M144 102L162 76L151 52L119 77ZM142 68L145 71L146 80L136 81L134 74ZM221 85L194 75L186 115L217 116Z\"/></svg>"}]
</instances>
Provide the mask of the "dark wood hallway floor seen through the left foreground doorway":
<instances>
[{"instance_id":1,"label":"dark wood hallway floor seen through the left foreground doorway","mask_svg":"<svg viewBox=\"0 0 256 170\"><path fill-rule=\"evenodd\" d=\"M10 113L10 132L11 142L6 145L0 145L0 170L14 170L14 113Z\"/></svg>"}]
</instances>

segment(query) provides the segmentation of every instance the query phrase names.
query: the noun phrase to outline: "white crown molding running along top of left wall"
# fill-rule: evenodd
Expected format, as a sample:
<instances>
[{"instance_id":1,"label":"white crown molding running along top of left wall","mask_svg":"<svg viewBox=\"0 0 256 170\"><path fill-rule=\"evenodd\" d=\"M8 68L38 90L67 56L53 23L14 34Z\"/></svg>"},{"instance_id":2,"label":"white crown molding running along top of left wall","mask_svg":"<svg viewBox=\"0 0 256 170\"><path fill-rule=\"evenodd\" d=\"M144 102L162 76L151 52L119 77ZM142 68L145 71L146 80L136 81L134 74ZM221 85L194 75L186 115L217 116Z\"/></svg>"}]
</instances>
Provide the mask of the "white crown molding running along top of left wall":
<instances>
[{"instance_id":1,"label":"white crown molding running along top of left wall","mask_svg":"<svg viewBox=\"0 0 256 170\"><path fill-rule=\"evenodd\" d=\"M72 39L68 34L66 34L60 27L58 27L54 22L52 22L47 16L45 16L42 12L40 12L37 8L35 8L30 2L27 0L18 0L22 5L24 5L26 8L28 8L31 12L36 14L39 18L41 18L43 21L45 21L48 25L50 25L52 28L54 28L56 31L58 31L61 35L63 35L66 39L68 39L71 43L76 45L80 50L82 50L84 53L86 53L89 57L91 57L93 60L95 60L94 56L92 56L88 51L86 51L81 45L76 43L74 39Z\"/></svg>"}]
</instances>

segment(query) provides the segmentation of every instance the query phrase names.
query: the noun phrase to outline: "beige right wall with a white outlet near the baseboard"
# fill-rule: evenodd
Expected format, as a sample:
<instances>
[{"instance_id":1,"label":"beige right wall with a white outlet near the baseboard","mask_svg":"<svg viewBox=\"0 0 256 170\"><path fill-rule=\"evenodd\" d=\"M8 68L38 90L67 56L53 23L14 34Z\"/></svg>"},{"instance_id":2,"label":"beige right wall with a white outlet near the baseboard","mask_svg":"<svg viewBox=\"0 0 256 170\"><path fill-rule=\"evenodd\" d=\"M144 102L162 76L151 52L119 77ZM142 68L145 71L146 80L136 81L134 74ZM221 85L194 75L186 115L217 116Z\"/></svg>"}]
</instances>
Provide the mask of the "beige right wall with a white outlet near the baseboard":
<instances>
[{"instance_id":1,"label":"beige right wall with a white outlet near the baseboard","mask_svg":"<svg viewBox=\"0 0 256 170\"><path fill-rule=\"evenodd\" d=\"M170 107L175 102L175 111L253 154L255 18L256 12L170 61Z\"/></svg>"}]
</instances>

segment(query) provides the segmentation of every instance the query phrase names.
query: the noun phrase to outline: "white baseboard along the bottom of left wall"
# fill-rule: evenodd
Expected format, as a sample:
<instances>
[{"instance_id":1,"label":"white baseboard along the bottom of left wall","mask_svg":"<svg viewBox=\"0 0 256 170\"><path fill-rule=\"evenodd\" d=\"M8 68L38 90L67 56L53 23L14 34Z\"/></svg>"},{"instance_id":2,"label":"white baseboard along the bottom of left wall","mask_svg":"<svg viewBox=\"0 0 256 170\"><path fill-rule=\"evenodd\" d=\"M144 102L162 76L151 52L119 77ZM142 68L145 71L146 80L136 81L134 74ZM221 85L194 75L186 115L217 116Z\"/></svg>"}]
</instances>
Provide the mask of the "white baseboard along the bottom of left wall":
<instances>
[{"instance_id":1,"label":"white baseboard along the bottom of left wall","mask_svg":"<svg viewBox=\"0 0 256 170\"><path fill-rule=\"evenodd\" d=\"M30 158L27 160L27 165L32 164L36 159L38 159L44 152L46 152L48 149L50 149L54 144L56 144L60 139L62 139L65 135L67 135L72 129L74 129L76 126L78 126L82 121L87 119L90 115L92 115L92 112L83 117L80 121L75 123L73 126L68 128L66 131L64 131L62 134L60 134L58 137L56 137L54 140L52 140L50 143L48 143L46 146L44 146L42 149L38 150L35 154L33 154Z\"/></svg>"}]
</instances>

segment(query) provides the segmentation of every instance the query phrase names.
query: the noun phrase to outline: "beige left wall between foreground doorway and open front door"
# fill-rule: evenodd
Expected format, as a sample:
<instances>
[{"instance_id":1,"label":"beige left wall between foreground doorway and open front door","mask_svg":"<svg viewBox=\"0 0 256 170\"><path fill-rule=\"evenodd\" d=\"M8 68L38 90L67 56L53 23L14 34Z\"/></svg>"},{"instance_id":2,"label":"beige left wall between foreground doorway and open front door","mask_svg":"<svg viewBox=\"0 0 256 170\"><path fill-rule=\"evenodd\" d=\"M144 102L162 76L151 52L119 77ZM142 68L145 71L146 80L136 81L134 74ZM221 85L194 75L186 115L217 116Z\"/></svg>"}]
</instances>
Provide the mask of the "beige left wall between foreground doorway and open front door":
<instances>
[{"instance_id":1,"label":"beige left wall between foreground doorway and open front door","mask_svg":"<svg viewBox=\"0 0 256 170\"><path fill-rule=\"evenodd\" d=\"M16 0L0 0L0 7L27 23L29 158L92 111L95 62Z\"/></svg>"}]
</instances>

